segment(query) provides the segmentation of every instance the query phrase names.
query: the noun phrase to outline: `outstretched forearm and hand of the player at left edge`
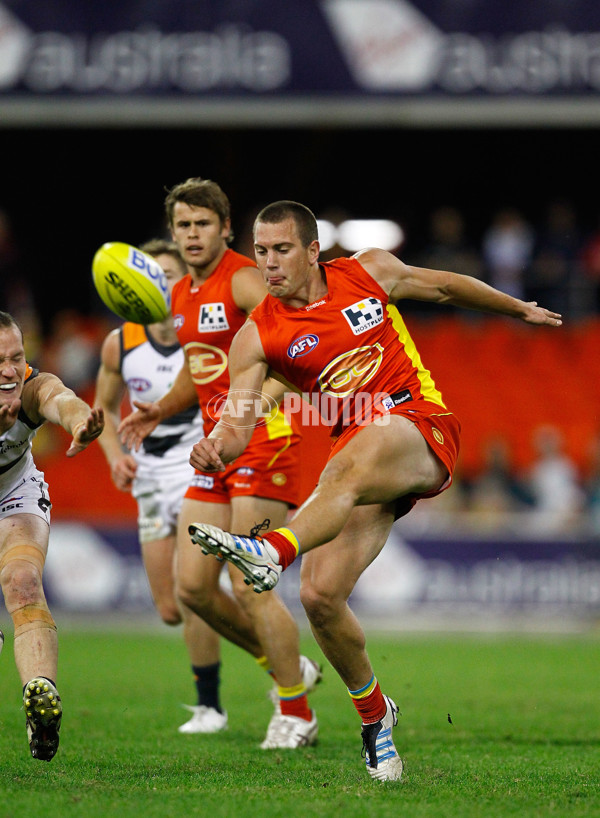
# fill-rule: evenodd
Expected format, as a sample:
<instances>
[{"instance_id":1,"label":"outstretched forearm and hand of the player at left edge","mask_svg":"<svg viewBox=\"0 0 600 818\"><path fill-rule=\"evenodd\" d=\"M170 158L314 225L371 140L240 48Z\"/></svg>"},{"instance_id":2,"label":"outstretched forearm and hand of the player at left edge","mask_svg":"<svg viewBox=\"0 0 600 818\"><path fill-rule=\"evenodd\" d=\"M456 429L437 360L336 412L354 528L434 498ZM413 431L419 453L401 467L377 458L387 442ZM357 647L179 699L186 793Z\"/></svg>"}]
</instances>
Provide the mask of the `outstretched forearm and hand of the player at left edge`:
<instances>
[{"instance_id":1,"label":"outstretched forearm and hand of the player at left edge","mask_svg":"<svg viewBox=\"0 0 600 818\"><path fill-rule=\"evenodd\" d=\"M73 435L67 457L74 457L100 436L104 428L103 410L90 408L56 375L42 372L31 381L31 387L27 396L24 393L26 411L31 413L30 417L49 420Z\"/></svg>"}]
</instances>

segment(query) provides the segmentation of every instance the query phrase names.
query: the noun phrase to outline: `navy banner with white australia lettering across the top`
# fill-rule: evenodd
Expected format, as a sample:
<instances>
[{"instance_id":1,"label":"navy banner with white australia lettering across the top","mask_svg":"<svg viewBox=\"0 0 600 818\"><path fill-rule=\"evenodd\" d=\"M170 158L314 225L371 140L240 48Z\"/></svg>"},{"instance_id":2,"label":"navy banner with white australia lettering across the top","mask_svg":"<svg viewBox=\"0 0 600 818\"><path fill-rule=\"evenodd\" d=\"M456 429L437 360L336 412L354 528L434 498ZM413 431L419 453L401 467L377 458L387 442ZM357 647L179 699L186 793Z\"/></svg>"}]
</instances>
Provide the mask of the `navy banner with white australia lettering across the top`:
<instances>
[{"instance_id":1,"label":"navy banner with white australia lettering across the top","mask_svg":"<svg viewBox=\"0 0 600 818\"><path fill-rule=\"evenodd\" d=\"M110 98L177 103L167 113L181 119L202 101L220 107L196 107L196 117L214 119L225 104L235 121L262 102L277 122L335 98L363 121L411 101L453 103L444 115L460 117L459 101L509 100L516 111L518 101L576 100L593 116L599 90L600 5L586 0L0 2L9 113L16 103ZM143 116L143 107L112 113Z\"/></svg>"}]
</instances>

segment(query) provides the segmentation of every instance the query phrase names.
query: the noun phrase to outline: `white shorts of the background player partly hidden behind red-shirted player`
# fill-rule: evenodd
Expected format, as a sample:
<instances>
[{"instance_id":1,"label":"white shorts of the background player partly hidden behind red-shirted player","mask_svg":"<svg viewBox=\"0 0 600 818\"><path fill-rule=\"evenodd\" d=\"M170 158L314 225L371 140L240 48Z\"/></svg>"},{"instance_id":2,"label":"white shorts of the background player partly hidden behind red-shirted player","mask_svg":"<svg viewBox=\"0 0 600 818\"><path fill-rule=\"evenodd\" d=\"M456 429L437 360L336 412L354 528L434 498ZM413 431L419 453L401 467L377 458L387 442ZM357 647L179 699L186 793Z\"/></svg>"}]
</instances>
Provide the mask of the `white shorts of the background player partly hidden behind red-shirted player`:
<instances>
[{"instance_id":1,"label":"white shorts of the background player partly hidden behind red-shirted player","mask_svg":"<svg viewBox=\"0 0 600 818\"><path fill-rule=\"evenodd\" d=\"M177 517L190 482L190 468L186 464L179 474L171 470L167 475L134 480L132 493L138 504L141 543L162 540L177 531Z\"/></svg>"}]
</instances>

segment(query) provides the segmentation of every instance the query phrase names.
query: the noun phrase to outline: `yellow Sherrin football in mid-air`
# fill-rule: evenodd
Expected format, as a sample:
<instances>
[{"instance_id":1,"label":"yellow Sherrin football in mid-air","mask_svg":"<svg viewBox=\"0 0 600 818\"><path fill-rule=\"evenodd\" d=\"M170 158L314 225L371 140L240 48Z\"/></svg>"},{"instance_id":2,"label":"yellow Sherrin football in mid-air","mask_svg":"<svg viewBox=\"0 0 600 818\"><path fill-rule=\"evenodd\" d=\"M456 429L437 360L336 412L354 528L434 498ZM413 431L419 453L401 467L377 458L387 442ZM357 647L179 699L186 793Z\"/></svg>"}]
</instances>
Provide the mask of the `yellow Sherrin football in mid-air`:
<instances>
[{"instance_id":1,"label":"yellow Sherrin football in mid-air","mask_svg":"<svg viewBox=\"0 0 600 818\"><path fill-rule=\"evenodd\" d=\"M124 321L155 324L171 311L162 267L131 244L103 244L92 261L92 277L102 301Z\"/></svg>"}]
</instances>

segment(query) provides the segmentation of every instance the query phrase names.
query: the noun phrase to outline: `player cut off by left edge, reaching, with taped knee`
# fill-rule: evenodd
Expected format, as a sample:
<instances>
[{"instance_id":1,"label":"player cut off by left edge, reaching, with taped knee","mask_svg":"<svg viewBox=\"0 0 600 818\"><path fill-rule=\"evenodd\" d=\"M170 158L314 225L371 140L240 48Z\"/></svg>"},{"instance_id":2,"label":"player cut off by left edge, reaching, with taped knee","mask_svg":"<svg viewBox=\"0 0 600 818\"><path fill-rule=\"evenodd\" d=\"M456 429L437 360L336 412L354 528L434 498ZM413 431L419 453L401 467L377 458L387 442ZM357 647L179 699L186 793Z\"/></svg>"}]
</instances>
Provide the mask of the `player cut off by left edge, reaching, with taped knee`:
<instances>
[{"instance_id":1,"label":"player cut off by left edge, reaching, with taped knee","mask_svg":"<svg viewBox=\"0 0 600 818\"><path fill-rule=\"evenodd\" d=\"M58 637L42 584L51 503L31 453L46 420L73 436L67 457L83 451L104 426L102 409L91 409L55 375L29 366L20 326L0 312L0 583L15 629L29 749L33 758L50 761L62 719Z\"/></svg>"}]
</instances>

